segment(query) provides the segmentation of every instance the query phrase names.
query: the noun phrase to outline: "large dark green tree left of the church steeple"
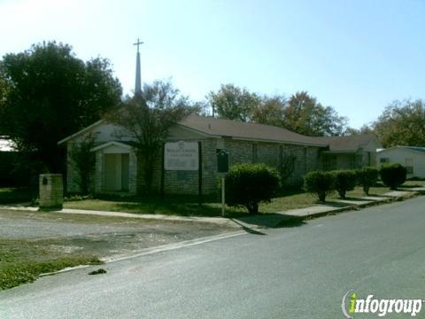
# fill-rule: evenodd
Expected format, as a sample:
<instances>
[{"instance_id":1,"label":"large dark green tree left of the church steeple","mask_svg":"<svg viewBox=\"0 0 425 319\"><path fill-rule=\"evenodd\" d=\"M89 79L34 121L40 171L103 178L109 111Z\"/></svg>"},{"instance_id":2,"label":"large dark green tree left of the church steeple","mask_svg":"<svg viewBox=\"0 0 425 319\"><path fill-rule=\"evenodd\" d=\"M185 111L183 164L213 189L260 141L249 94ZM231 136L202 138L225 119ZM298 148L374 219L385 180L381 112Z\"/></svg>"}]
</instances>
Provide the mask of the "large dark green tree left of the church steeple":
<instances>
[{"instance_id":1,"label":"large dark green tree left of the church steeple","mask_svg":"<svg viewBox=\"0 0 425 319\"><path fill-rule=\"evenodd\" d=\"M100 119L120 103L120 82L107 60L84 62L62 43L39 43L0 61L7 83L0 104L0 131L22 153L31 153L50 172L64 169L58 140Z\"/></svg>"}]
</instances>

